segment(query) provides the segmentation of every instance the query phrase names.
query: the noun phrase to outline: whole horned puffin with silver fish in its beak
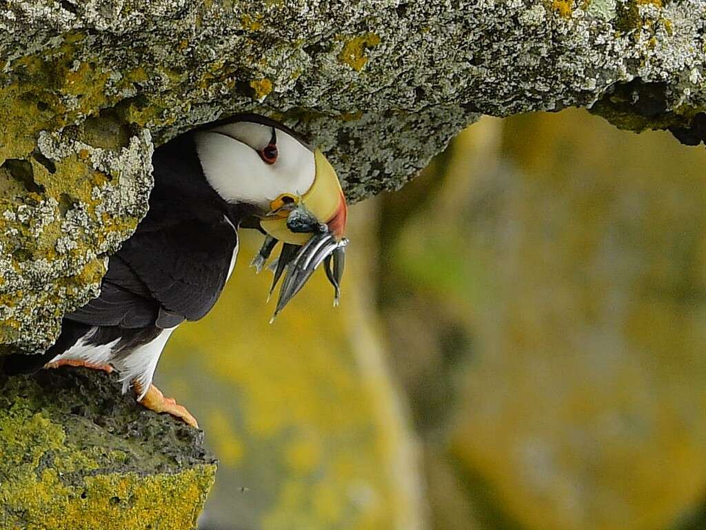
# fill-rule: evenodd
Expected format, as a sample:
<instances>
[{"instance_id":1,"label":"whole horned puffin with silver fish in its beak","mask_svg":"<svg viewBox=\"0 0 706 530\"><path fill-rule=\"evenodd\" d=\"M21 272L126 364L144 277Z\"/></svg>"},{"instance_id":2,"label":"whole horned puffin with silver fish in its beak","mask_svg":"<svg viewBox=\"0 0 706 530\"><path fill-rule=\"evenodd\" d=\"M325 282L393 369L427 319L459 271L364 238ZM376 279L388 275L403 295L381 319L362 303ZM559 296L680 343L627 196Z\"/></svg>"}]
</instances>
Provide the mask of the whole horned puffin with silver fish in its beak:
<instances>
[{"instance_id":1,"label":"whole horned puffin with silver fish in its beak","mask_svg":"<svg viewBox=\"0 0 706 530\"><path fill-rule=\"evenodd\" d=\"M238 254L238 230L265 235L253 259L282 278L275 316L322 263L335 288L347 245L347 206L321 151L280 123L239 114L181 134L155 149L155 184L136 232L109 257L100 296L64 316L42 355L11 355L5 370L62 365L116 370L123 393L198 427L196 418L152 384L164 345L184 321L218 300ZM274 318L274 317L273 317Z\"/></svg>"}]
</instances>

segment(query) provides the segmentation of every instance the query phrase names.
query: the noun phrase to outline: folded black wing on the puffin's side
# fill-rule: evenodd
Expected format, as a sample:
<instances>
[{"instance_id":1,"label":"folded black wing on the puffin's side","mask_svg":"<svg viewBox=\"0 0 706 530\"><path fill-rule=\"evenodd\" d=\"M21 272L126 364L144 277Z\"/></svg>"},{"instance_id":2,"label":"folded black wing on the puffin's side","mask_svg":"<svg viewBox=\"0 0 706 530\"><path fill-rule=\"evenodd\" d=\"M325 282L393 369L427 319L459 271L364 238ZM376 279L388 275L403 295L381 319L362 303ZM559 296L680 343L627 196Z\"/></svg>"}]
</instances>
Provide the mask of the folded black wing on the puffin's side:
<instances>
[{"instance_id":1,"label":"folded black wing on the puffin's side","mask_svg":"<svg viewBox=\"0 0 706 530\"><path fill-rule=\"evenodd\" d=\"M236 245L237 234L225 219L138 229L110 257L100 296L66 318L123 328L198 320L220 296Z\"/></svg>"}]
</instances>

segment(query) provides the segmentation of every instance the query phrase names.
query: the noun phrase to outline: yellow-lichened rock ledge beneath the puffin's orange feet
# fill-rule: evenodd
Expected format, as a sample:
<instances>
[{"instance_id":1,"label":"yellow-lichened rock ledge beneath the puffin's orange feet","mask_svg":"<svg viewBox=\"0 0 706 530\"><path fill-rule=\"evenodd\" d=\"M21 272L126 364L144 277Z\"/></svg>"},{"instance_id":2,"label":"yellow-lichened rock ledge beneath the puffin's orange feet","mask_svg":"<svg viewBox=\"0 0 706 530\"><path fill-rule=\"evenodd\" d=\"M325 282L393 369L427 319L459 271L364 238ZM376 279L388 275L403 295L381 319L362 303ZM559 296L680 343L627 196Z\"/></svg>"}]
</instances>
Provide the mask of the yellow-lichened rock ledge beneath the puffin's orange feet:
<instances>
[{"instance_id":1,"label":"yellow-lichened rock ledge beneath the puffin's orange feet","mask_svg":"<svg viewBox=\"0 0 706 530\"><path fill-rule=\"evenodd\" d=\"M93 370L0 376L0 528L196 526L215 461L203 434Z\"/></svg>"}]
</instances>

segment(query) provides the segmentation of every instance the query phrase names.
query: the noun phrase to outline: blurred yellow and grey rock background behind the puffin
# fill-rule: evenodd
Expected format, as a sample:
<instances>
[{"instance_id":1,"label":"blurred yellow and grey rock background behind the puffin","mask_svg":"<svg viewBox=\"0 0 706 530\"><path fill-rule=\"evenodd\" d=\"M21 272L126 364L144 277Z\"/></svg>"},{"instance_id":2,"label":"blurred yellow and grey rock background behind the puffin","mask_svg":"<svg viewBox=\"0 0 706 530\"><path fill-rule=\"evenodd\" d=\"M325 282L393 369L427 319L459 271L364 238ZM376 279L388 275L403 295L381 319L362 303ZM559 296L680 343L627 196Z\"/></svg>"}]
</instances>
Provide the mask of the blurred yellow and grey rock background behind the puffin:
<instances>
[{"instance_id":1,"label":"blurred yellow and grey rock background behind the puffin","mask_svg":"<svg viewBox=\"0 0 706 530\"><path fill-rule=\"evenodd\" d=\"M268 324L247 268L158 383L222 465L211 530L706 528L706 151L585 111L482 119L354 206Z\"/></svg>"}]
</instances>

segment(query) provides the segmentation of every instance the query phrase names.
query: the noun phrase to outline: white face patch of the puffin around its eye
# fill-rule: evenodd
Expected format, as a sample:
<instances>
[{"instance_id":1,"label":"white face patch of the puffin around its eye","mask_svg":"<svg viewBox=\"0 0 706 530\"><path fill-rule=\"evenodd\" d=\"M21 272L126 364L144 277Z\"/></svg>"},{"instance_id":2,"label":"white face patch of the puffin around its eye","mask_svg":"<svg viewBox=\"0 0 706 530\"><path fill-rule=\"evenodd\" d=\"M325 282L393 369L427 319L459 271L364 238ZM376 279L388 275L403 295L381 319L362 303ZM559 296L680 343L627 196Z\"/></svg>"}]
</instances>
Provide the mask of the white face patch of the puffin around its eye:
<instances>
[{"instance_id":1,"label":"white face patch of the puffin around its eye","mask_svg":"<svg viewBox=\"0 0 706 530\"><path fill-rule=\"evenodd\" d=\"M303 195L316 173L308 148L280 129L277 161L265 163L256 150L268 145L272 127L237 122L198 132L196 152L208 183L229 203L269 208L281 194Z\"/></svg>"}]
</instances>

